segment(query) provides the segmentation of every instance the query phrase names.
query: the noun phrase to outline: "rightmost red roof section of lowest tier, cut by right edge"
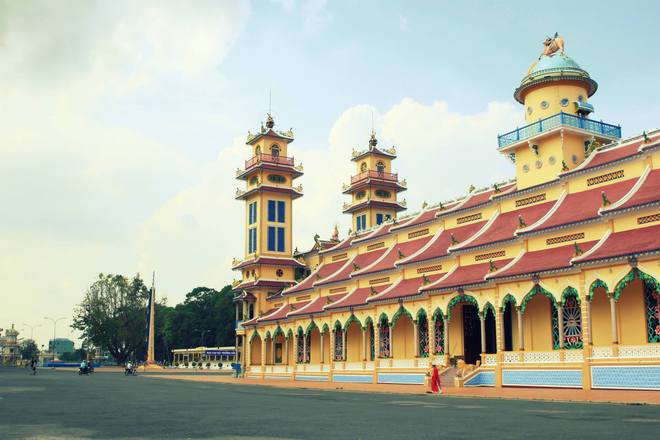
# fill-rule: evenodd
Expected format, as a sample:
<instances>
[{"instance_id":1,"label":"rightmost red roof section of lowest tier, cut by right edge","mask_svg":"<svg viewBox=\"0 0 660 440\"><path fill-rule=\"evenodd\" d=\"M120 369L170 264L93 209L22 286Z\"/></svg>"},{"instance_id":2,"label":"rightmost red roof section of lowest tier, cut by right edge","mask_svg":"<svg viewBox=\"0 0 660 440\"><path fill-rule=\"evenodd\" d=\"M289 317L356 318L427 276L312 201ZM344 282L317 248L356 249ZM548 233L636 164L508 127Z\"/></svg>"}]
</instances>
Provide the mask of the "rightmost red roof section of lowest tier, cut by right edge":
<instances>
[{"instance_id":1,"label":"rightmost red roof section of lowest tier, cut by right edge","mask_svg":"<svg viewBox=\"0 0 660 440\"><path fill-rule=\"evenodd\" d=\"M609 234L594 246L591 252L585 252L574 258L573 263L588 263L658 251L660 251L660 225L655 225Z\"/></svg>"}]
</instances>

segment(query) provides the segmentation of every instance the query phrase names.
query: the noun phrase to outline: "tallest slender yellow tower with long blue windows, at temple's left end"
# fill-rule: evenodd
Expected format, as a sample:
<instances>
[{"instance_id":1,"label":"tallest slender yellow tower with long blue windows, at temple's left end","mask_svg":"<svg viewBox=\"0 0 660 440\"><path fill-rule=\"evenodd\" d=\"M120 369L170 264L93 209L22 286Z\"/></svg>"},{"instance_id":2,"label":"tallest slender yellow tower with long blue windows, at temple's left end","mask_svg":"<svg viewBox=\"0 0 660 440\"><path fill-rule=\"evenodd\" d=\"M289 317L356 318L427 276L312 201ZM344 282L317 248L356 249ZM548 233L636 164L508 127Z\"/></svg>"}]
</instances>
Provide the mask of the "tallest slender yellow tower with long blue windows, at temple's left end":
<instances>
[{"instance_id":1,"label":"tallest slender yellow tower with long blue windows, at temple's left end","mask_svg":"<svg viewBox=\"0 0 660 440\"><path fill-rule=\"evenodd\" d=\"M248 132L250 157L236 170L236 178L245 182L244 189L236 190L236 199L245 202L245 248L243 260L234 260L232 266L241 271L234 291L243 302L237 314L244 320L265 312L266 300L294 284L295 269L302 266L293 258L292 245L292 203L302 197L302 185L293 181L303 174L302 165L296 166L288 155L293 131L274 127L268 114L265 126L256 134Z\"/></svg>"}]
</instances>

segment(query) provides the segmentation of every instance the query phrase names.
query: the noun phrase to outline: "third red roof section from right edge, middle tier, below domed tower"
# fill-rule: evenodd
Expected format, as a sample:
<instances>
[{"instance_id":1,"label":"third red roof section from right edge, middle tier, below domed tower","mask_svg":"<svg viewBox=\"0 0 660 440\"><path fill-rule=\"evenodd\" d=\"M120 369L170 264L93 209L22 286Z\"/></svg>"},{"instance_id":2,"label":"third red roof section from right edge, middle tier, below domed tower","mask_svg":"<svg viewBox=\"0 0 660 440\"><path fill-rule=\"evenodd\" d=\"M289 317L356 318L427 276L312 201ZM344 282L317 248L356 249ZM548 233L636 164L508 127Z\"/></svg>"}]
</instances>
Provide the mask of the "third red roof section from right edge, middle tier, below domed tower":
<instances>
[{"instance_id":1,"label":"third red roof section from right edge, middle tier, below domed tower","mask_svg":"<svg viewBox=\"0 0 660 440\"><path fill-rule=\"evenodd\" d=\"M519 228L519 217L528 225L532 225L541 219L555 204L555 201L545 202L527 208L518 209L499 214L490 226L481 231L473 241L459 243L456 249L472 249L500 241L515 238L515 232ZM454 248L452 248L452 251Z\"/></svg>"}]
</instances>

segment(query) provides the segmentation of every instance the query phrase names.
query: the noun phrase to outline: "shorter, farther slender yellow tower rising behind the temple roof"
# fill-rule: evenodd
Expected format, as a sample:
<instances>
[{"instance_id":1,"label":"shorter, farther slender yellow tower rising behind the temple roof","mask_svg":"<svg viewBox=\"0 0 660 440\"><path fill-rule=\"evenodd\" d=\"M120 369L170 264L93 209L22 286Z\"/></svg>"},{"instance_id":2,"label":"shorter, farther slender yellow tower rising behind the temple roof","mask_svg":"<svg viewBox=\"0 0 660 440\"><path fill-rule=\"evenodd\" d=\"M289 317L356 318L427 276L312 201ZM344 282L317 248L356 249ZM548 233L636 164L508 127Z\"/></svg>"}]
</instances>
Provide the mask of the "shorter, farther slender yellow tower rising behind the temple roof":
<instances>
[{"instance_id":1,"label":"shorter, farther slender yellow tower rising behind the temple roof","mask_svg":"<svg viewBox=\"0 0 660 440\"><path fill-rule=\"evenodd\" d=\"M344 194L350 194L351 203L344 204L344 213L353 217L352 229L360 232L396 218L406 209L405 200L397 200L397 194L406 190L406 182L392 173L392 161L396 159L394 147L378 148L376 133L371 133L369 147L364 151L353 150L356 174L350 185L344 184Z\"/></svg>"}]
</instances>

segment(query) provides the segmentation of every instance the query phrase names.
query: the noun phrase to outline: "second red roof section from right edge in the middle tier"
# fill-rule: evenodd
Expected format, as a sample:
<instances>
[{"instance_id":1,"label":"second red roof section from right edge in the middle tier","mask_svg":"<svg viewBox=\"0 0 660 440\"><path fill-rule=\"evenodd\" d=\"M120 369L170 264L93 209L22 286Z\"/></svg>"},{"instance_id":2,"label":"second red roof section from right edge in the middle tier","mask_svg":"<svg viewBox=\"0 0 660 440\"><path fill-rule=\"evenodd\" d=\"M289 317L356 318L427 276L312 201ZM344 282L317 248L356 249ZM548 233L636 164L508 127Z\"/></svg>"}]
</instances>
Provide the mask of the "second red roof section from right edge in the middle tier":
<instances>
[{"instance_id":1,"label":"second red roof section from right edge in the middle tier","mask_svg":"<svg viewBox=\"0 0 660 440\"><path fill-rule=\"evenodd\" d=\"M546 220L537 225L530 225L527 229L520 231L521 234L542 231L550 228L558 228L572 223L592 220L599 217L598 210L603 205L601 193L604 191L607 199L614 203L626 194L635 184L637 179L628 179L623 182L613 183L607 186L590 189L578 193L568 194L557 208Z\"/></svg>"}]
</instances>

